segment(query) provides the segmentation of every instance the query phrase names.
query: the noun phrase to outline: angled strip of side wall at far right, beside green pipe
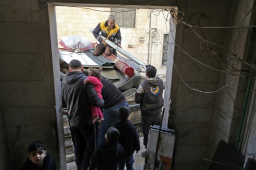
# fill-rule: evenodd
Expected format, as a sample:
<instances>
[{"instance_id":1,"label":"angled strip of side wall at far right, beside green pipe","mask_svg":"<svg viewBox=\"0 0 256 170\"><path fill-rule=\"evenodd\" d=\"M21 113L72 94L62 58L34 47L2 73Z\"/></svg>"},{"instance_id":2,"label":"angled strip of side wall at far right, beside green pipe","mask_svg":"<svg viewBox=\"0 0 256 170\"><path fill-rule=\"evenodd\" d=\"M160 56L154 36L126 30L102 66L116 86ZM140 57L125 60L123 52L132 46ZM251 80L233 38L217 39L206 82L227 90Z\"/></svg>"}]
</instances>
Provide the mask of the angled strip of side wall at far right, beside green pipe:
<instances>
[{"instance_id":1,"label":"angled strip of side wall at far right, beside green pipe","mask_svg":"<svg viewBox=\"0 0 256 170\"><path fill-rule=\"evenodd\" d=\"M250 25L253 0L234 1L229 8L228 25ZM248 13L248 14L247 14ZM247 15L246 15L247 14ZM253 24L253 23L252 23ZM237 54L237 56L246 61L248 49L250 46L251 29L229 29L225 37L224 46L228 51ZM241 70L249 70L249 67L242 66L241 62L237 61L234 56L223 50L223 58L234 68ZM229 59L228 59L229 58ZM251 58L250 58L251 59ZM250 62L251 60L248 60ZM230 72L230 66L223 66L225 71ZM247 86L247 78L243 77L247 73L234 72L239 76L221 73L219 75L218 87L229 84L223 91L217 93L214 113L211 126L211 138L209 141L209 156L214 154L215 148L220 139L235 146L236 137L238 134L238 126L243 108L245 88Z\"/></svg>"}]
</instances>

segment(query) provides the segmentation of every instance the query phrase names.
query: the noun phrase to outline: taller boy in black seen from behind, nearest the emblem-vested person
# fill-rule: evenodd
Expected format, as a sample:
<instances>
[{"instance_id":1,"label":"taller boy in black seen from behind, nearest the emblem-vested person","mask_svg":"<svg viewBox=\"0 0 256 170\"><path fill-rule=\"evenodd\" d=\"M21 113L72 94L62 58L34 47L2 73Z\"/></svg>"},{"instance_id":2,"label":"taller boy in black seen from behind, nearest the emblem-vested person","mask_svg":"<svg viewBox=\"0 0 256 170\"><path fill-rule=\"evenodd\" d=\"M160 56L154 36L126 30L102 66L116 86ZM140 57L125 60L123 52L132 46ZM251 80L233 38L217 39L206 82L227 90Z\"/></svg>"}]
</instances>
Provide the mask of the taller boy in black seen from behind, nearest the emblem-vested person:
<instances>
[{"instance_id":1,"label":"taller boy in black seen from behind, nearest the emblem-vested person","mask_svg":"<svg viewBox=\"0 0 256 170\"><path fill-rule=\"evenodd\" d=\"M124 170L124 165L126 170L133 170L133 156L134 150L136 153L140 150L139 138L136 128L130 121L128 117L130 114L130 109L128 107L121 107L119 109L119 120L113 123L119 133L120 137L118 142L122 145L124 150L124 158L120 159L118 163L118 170Z\"/></svg>"}]
</instances>

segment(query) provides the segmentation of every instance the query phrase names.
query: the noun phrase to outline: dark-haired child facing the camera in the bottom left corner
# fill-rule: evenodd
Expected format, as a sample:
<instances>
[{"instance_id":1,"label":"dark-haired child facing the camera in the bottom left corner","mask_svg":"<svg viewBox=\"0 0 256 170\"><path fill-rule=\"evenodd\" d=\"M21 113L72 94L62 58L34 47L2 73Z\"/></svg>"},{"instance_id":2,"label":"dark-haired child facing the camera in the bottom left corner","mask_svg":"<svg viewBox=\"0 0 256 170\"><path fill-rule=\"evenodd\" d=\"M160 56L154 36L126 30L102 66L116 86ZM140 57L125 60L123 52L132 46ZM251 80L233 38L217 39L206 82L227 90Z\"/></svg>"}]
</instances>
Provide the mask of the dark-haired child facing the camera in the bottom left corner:
<instances>
[{"instance_id":1,"label":"dark-haired child facing the camera in the bottom left corner","mask_svg":"<svg viewBox=\"0 0 256 170\"><path fill-rule=\"evenodd\" d=\"M28 158L20 170L57 170L53 158L47 154L41 141L34 141L28 146Z\"/></svg>"}]
</instances>

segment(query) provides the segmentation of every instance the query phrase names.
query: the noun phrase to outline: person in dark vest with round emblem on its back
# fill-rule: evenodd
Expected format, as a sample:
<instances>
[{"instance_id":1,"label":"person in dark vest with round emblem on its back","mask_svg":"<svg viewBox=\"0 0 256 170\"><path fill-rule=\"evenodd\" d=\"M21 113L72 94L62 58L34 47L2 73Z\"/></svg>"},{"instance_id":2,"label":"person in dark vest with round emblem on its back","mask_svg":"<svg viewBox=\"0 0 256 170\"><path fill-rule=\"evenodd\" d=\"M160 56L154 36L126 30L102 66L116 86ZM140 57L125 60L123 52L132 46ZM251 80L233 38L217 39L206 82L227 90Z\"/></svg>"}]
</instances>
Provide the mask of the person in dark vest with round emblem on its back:
<instances>
[{"instance_id":1,"label":"person in dark vest with round emblem on its back","mask_svg":"<svg viewBox=\"0 0 256 170\"><path fill-rule=\"evenodd\" d=\"M134 101L140 104L143 144L146 148L151 125L159 125L163 106L163 81L155 77L156 68L146 65L146 79L139 85ZM145 157L145 152L141 153Z\"/></svg>"}]
</instances>

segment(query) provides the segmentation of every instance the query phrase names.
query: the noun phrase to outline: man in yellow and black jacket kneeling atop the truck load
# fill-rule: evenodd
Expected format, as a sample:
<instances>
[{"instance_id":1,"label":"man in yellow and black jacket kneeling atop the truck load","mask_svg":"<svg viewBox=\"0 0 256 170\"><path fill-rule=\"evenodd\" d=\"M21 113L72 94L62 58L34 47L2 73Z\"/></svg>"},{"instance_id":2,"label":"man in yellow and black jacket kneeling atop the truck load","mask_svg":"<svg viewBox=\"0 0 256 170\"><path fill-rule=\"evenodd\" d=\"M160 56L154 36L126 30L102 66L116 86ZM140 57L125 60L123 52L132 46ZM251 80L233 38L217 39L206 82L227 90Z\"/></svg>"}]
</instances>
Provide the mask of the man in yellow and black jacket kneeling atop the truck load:
<instances>
[{"instance_id":1,"label":"man in yellow and black jacket kneeling atop the truck load","mask_svg":"<svg viewBox=\"0 0 256 170\"><path fill-rule=\"evenodd\" d=\"M106 21L99 22L92 31L94 37L99 41L99 44L94 48L93 55L99 56L103 52L105 53L105 56L109 56L111 54L116 55L115 49L107 45L105 43L105 39L99 36L100 31L102 36L121 47L121 32L119 26L115 23L114 15L109 15Z\"/></svg>"}]
</instances>

